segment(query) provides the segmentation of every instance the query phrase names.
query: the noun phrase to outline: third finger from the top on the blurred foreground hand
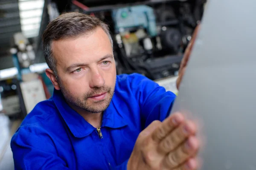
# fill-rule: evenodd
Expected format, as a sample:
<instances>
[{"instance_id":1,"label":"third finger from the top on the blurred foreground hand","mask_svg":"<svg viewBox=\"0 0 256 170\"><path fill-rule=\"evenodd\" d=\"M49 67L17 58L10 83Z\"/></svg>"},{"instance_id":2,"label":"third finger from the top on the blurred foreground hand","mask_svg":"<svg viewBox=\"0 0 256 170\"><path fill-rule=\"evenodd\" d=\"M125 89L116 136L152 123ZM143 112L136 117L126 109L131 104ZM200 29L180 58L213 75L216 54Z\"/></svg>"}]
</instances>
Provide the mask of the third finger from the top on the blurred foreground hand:
<instances>
[{"instance_id":1,"label":"third finger from the top on the blurred foreground hand","mask_svg":"<svg viewBox=\"0 0 256 170\"><path fill-rule=\"evenodd\" d=\"M177 168L177 170L183 170L182 168L190 168L192 170L193 168L195 169L194 163L191 164L191 162L188 161L197 152L198 147L198 139L196 139L195 136L190 136L186 142L181 144L174 152L169 153L165 157L165 159L163 160L163 166L166 169L172 169L175 167Z\"/></svg>"}]
</instances>

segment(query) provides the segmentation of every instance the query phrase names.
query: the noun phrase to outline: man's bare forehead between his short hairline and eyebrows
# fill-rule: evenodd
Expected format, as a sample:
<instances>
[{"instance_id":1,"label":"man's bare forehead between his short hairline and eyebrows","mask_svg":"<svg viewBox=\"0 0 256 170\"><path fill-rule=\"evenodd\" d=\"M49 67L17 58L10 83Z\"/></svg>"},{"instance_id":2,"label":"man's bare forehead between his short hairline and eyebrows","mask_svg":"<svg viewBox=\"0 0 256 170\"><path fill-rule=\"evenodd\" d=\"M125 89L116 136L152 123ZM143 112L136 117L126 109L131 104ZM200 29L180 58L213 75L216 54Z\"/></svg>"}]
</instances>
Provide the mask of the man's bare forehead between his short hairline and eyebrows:
<instances>
[{"instance_id":1,"label":"man's bare forehead between his short hairline and eyebrows","mask_svg":"<svg viewBox=\"0 0 256 170\"><path fill-rule=\"evenodd\" d=\"M63 68L77 62L90 64L113 53L109 37L102 28L76 38L53 41L52 52L57 66Z\"/></svg>"}]
</instances>

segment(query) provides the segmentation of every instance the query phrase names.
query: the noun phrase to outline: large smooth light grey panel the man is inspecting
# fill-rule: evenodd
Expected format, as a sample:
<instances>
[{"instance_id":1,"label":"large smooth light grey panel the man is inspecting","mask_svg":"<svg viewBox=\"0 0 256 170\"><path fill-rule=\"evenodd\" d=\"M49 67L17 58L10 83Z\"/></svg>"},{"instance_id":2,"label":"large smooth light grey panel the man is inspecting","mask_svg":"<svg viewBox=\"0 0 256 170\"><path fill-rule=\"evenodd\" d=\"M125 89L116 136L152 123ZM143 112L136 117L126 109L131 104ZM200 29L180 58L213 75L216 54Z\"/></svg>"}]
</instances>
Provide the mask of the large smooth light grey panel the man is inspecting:
<instances>
[{"instance_id":1,"label":"large smooth light grey panel the man is inspecting","mask_svg":"<svg viewBox=\"0 0 256 170\"><path fill-rule=\"evenodd\" d=\"M202 170L256 170L256 0L211 0L172 112L199 122Z\"/></svg>"}]
</instances>

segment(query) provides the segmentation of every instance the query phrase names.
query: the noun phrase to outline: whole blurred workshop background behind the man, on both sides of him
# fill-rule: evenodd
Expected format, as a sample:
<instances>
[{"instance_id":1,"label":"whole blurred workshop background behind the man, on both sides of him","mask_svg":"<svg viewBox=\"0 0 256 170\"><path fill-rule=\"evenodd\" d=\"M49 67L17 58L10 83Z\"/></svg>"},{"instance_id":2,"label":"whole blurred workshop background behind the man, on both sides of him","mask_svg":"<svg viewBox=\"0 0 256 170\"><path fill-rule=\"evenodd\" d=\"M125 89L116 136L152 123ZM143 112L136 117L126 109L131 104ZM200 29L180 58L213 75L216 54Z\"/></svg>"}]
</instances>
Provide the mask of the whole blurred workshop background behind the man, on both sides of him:
<instances>
[{"instance_id":1,"label":"whole blurred workshop background behind the man, on both sides of him","mask_svg":"<svg viewBox=\"0 0 256 170\"><path fill-rule=\"evenodd\" d=\"M14 170L10 139L53 86L41 36L59 14L77 11L109 24L117 74L140 73L177 93L180 61L206 0L0 0L0 170Z\"/></svg>"}]
</instances>

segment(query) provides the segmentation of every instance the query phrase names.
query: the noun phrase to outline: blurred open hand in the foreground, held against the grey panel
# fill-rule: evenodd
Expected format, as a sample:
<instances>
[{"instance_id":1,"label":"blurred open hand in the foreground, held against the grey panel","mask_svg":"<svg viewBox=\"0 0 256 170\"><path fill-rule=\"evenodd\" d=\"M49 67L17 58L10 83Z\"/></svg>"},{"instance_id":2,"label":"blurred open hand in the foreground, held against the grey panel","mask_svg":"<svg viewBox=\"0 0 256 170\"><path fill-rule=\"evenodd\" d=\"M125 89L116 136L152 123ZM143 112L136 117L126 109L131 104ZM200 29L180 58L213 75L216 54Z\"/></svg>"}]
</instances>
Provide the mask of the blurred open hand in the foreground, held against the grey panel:
<instances>
[{"instance_id":1,"label":"blurred open hand in the foreground, held against the grey panel","mask_svg":"<svg viewBox=\"0 0 256 170\"><path fill-rule=\"evenodd\" d=\"M196 170L196 127L180 113L143 130L128 161L128 170Z\"/></svg>"}]
</instances>

